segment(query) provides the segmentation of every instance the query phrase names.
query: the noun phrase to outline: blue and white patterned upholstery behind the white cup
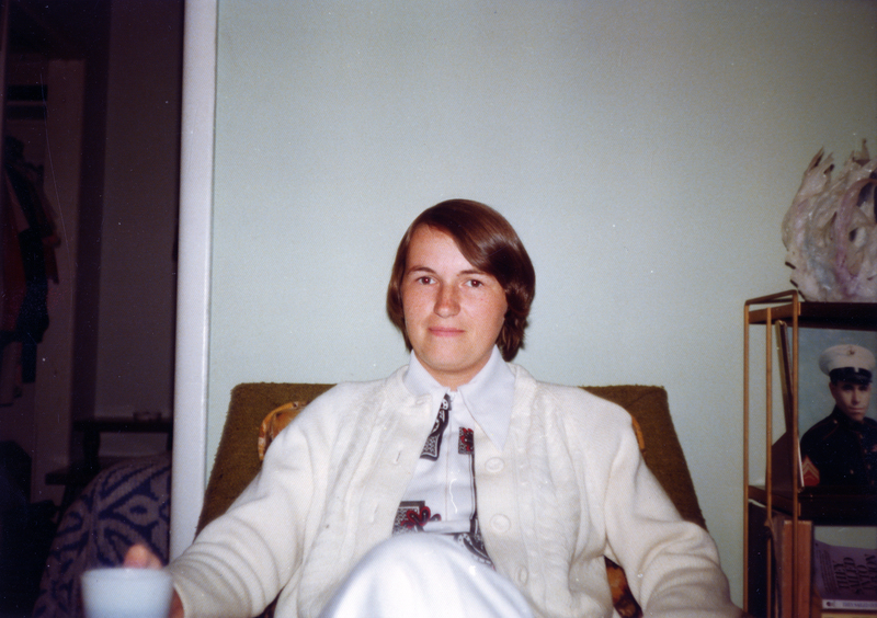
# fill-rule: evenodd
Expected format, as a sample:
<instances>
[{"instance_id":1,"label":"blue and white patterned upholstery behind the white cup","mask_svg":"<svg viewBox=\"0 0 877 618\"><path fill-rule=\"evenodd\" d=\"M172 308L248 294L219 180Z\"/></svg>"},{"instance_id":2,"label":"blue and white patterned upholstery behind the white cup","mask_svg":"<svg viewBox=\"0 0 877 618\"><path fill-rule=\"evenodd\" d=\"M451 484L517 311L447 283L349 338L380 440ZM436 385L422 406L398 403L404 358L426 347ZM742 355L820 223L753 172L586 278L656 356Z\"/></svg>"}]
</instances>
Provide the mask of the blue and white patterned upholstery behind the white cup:
<instances>
[{"instance_id":1,"label":"blue and white patterned upholstery behind the white cup","mask_svg":"<svg viewBox=\"0 0 877 618\"><path fill-rule=\"evenodd\" d=\"M121 564L140 542L168 561L171 456L130 459L98 474L65 513L46 561L34 618L81 618L79 576Z\"/></svg>"}]
</instances>

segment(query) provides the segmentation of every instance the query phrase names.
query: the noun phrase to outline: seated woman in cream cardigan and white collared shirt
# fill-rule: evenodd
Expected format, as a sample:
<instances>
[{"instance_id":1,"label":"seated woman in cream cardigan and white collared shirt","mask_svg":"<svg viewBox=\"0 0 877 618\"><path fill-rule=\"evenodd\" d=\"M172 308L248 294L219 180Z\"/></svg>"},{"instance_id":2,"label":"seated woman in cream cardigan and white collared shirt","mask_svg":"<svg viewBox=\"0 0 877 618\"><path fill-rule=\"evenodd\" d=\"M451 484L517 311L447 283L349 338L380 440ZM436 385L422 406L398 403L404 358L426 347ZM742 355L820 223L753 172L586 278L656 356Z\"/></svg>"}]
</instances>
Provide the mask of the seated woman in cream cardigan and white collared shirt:
<instances>
[{"instance_id":1,"label":"seated woman in cream cardigan and white collared shirt","mask_svg":"<svg viewBox=\"0 0 877 618\"><path fill-rule=\"evenodd\" d=\"M249 616L280 593L277 616L610 616L607 556L649 616L738 616L715 545L646 468L629 415L510 363L534 293L496 210L421 214L387 294L408 366L339 385L272 443L169 566L178 611Z\"/></svg>"}]
</instances>

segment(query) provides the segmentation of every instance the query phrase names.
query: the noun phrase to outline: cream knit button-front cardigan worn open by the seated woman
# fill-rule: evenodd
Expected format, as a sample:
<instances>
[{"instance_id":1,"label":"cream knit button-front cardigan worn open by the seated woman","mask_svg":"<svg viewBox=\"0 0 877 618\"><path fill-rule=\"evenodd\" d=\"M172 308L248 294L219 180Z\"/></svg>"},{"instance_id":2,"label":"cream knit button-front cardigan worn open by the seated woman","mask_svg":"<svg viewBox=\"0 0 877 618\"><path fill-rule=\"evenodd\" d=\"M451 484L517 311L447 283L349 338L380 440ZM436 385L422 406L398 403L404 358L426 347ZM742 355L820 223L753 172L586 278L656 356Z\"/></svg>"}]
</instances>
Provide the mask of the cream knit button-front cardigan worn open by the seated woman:
<instances>
[{"instance_id":1,"label":"cream knit button-front cardigan worn open by the seated woman","mask_svg":"<svg viewBox=\"0 0 877 618\"><path fill-rule=\"evenodd\" d=\"M630 416L523 368L500 451L475 428L478 516L498 572L536 616L612 616L603 556L646 616L739 616L715 543L683 522L647 469ZM169 565L187 618L317 616L353 565L389 538L433 425L403 369L342 384L272 443L229 511Z\"/></svg>"}]
</instances>

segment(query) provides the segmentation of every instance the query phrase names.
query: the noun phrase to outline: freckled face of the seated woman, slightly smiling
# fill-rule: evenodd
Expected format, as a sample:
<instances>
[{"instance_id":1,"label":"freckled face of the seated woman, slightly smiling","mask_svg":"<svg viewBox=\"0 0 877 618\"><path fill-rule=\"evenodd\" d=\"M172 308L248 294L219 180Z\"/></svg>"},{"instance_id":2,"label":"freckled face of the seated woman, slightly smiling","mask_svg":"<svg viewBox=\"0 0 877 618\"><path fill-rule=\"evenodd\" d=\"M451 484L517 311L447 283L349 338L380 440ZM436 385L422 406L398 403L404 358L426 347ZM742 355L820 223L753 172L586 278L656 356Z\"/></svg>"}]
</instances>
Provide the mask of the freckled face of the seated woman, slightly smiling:
<instances>
[{"instance_id":1,"label":"freckled face of the seated woman, slightly smiling","mask_svg":"<svg viewBox=\"0 0 877 618\"><path fill-rule=\"evenodd\" d=\"M453 237L421 226L411 237L401 291L418 360L452 389L471 380L505 320L505 290L496 277L472 266Z\"/></svg>"}]
</instances>

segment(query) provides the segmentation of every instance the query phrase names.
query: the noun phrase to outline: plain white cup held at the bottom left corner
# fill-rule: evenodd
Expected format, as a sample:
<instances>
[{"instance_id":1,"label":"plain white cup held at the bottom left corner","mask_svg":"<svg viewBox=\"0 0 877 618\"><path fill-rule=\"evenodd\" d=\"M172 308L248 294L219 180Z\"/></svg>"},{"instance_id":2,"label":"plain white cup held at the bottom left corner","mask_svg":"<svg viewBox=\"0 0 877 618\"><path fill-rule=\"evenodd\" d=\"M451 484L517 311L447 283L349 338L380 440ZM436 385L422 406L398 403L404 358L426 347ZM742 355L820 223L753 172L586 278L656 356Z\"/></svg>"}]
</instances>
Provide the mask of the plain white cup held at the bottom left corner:
<instances>
[{"instance_id":1,"label":"plain white cup held at the bottom left corner","mask_svg":"<svg viewBox=\"0 0 877 618\"><path fill-rule=\"evenodd\" d=\"M171 574L157 569L116 566L82 573L86 618L168 618Z\"/></svg>"}]
</instances>

